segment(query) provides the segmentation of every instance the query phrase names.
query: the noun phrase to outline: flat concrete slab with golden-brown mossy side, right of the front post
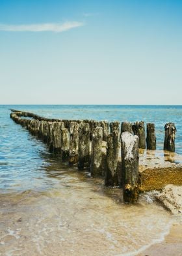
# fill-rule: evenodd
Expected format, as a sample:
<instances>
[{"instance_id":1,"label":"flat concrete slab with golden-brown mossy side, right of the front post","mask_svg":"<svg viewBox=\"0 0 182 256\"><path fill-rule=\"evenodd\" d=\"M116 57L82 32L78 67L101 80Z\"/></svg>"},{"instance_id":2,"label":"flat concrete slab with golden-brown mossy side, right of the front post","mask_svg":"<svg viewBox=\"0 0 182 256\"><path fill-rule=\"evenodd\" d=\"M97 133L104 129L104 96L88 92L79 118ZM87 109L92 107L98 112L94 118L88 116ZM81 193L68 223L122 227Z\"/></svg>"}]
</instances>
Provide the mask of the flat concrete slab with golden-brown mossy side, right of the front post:
<instances>
[{"instance_id":1,"label":"flat concrete slab with golden-brown mossy side, right of the front post","mask_svg":"<svg viewBox=\"0 0 182 256\"><path fill-rule=\"evenodd\" d=\"M140 152L140 191L159 190L168 184L182 185L182 156L157 150Z\"/></svg>"}]
</instances>

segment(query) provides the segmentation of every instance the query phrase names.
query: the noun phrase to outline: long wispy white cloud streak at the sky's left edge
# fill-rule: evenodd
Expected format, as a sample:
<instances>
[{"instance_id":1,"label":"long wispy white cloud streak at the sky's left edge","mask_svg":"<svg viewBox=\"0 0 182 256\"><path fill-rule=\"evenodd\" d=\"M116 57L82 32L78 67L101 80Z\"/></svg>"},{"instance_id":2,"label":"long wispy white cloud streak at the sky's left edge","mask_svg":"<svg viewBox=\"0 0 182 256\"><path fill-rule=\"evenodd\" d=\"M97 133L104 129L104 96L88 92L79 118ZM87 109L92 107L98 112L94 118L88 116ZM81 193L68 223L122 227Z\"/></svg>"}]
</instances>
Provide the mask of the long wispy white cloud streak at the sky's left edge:
<instances>
[{"instance_id":1,"label":"long wispy white cloud streak at the sky's left edge","mask_svg":"<svg viewBox=\"0 0 182 256\"><path fill-rule=\"evenodd\" d=\"M0 24L0 31L13 31L13 32L64 32L75 27L81 27L84 24L82 22L64 22L60 23L44 23L44 24L21 24L21 25L9 25Z\"/></svg>"}]
</instances>

